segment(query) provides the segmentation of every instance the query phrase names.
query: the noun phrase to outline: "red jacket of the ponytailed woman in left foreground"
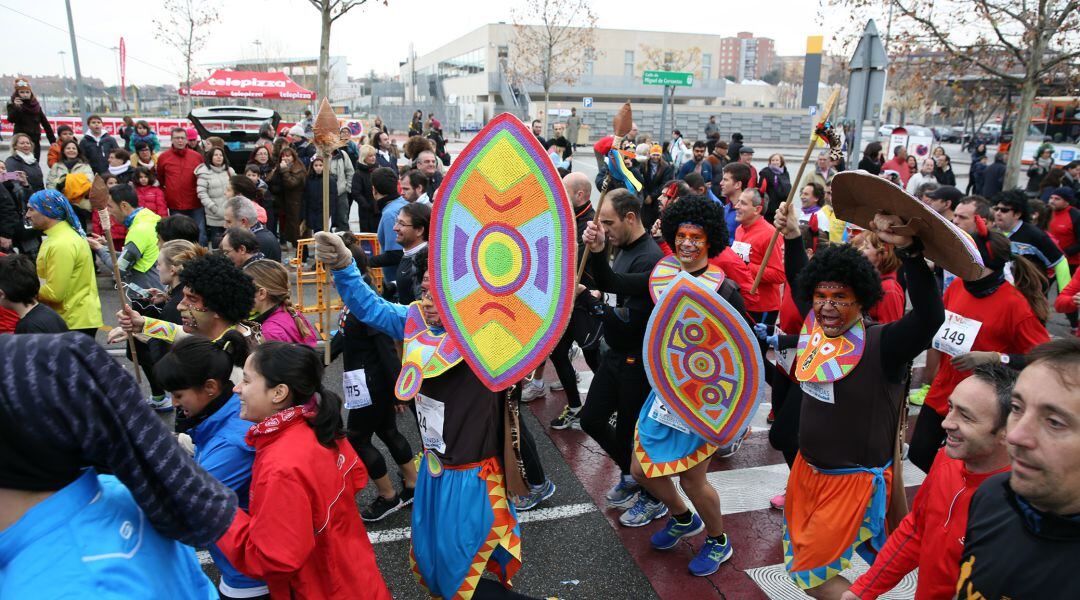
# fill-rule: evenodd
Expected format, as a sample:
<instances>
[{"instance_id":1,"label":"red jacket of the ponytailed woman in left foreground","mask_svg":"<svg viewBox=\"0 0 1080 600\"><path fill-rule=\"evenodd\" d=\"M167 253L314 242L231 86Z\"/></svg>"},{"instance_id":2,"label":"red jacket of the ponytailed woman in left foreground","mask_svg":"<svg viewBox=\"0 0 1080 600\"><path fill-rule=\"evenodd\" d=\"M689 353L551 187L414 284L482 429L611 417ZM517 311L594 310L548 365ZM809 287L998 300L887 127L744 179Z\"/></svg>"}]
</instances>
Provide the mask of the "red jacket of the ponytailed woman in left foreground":
<instances>
[{"instance_id":1,"label":"red jacket of the ponytailed woman in left foreground","mask_svg":"<svg viewBox=\"0 0 1080 600\"><path fill-rule=\"evenodd\" d=\"M217 547L273 598L390 600L353 497L367 471L346 439L319 444L302 417L288 410L272 433L253 435L248 512L237 510ZM253 427L266 426L270 419Z\"/></svg>"}]
</instances>

